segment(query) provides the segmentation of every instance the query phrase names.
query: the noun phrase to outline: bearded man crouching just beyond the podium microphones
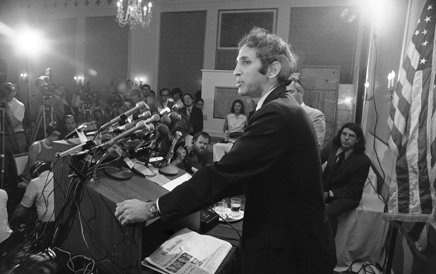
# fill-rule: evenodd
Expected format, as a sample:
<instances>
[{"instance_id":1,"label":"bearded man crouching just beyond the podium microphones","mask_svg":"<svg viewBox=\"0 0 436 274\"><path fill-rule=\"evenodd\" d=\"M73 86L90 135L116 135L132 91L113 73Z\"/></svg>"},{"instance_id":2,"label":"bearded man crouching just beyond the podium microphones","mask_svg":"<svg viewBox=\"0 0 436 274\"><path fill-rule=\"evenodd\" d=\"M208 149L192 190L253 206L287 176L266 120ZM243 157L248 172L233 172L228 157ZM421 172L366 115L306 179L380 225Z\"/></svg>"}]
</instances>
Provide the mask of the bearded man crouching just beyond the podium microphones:
<instances>
[{"instance_id":1,"label":"bearded man crouching just beyond the podium microphones","mask_svg":"<svg viewBox=\"0 0 436 274\"><path fill-rule=\"evenodd\" d=\"M204 131L200 131L194 135L192 139L192 146L187 147L187 155L185 157L184 170L194 174L194 170L200 169L206 164L212 164L214 162L213 155L208 150L211 137Z\"/></svg>"}]
</instances>

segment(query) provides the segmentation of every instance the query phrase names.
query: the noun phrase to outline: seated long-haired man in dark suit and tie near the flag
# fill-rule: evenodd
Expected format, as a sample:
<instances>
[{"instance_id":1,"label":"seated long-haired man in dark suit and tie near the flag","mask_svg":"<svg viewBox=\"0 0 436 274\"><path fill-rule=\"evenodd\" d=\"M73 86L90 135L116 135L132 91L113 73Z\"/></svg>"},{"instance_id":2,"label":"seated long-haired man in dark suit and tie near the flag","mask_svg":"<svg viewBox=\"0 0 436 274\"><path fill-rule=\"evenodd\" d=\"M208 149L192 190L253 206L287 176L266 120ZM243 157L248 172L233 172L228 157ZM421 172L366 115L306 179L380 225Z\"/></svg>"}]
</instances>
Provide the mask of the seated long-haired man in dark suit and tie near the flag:
<instances>
[{"instance_id":1,"label":"seated long-haired man in dark suit and tie near the flag","mask_svg":"<svg viewBox=\"0 0 436 274\"><path fill-rule=\"evenodd\" d=\"M336 236L337 217L358 206L371 160L364 154L365 138L358 124L347 123L321 150L327 215Z\"/></svg>"}]
</instances>

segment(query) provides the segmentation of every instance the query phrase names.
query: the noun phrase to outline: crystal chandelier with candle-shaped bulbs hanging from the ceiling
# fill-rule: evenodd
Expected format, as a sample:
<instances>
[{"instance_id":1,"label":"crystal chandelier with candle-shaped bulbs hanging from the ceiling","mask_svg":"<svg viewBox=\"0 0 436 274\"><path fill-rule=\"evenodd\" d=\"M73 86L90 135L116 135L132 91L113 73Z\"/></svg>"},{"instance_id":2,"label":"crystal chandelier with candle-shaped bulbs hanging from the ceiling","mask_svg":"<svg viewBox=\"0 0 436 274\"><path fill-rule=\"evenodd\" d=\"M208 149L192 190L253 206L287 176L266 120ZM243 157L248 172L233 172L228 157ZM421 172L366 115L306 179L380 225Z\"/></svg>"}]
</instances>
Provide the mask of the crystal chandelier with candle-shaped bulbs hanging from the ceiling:
<instances>
[{"instance_id":1,"label":"crystal chandelier with candle-shaped bulbs hanging from the ceiling","mask_svg":"<svg viewBox=\"0 0 436 274\"><path fill-rule=\"evenodd\" d=\"M126 12L124 12L123 0L118 0L116 5L116 21L121 27L130 25L130 29L135 31L137 27L147 28L150 26L151 19L151 2L148 2L148 7L144 4L141 7L142 0L126 0Z\"/></svg>"}]
</instances>

